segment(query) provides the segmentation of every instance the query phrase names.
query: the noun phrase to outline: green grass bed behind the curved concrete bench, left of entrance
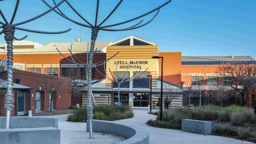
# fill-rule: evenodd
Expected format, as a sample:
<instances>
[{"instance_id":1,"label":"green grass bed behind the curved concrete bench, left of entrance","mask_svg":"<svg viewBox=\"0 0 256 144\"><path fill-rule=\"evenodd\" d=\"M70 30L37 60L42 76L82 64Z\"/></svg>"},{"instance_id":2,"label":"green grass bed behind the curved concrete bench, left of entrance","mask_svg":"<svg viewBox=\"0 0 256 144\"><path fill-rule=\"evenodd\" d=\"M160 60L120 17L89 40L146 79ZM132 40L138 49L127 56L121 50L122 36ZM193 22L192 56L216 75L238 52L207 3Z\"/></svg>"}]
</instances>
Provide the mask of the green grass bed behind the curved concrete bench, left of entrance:
<instances>
[{"instance_id":1,"label":"green grass bed behind the curved concrete bench, left of entrance","mask_svg":"<svg viewBox=\"0 0 256 144\"><path fill-rule=\"evenodd\" d=\"M93 119L94 120L122 120L126 118L132 118L134 113L129 107L125 106L111 106L111 105L97 105L93 107ZM86 107L80 107L74 111L73 114L68 116L69 122L86 122L87 109Z\"/></svg>"}]
</instances>

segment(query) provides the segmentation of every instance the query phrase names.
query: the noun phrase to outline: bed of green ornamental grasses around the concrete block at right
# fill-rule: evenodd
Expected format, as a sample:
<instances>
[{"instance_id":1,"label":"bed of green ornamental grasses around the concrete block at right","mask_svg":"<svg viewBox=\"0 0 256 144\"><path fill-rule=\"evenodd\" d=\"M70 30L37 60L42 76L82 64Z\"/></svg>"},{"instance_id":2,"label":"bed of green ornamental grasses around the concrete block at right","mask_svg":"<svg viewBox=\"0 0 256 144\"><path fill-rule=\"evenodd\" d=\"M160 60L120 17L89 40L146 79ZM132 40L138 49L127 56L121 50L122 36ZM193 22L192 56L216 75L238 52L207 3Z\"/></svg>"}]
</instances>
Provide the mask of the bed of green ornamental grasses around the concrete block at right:
<instances>
[{"instance_id":1,"label":"bed of green ornamental grasses around the concrete block at right","mask_svg":"<svg viewBox=\"0 0 256 144\"><path fill-rule=\"evenodd\" d=\"M182 119L205 120L212 122L212 134L256 142L256 114L252 109L231 105L217 107L206 105L202 107L178 107L163 111L163 121L160 113L156 120L148 120L147 124L154 127L181 129Z\"/></svg>"}]
</instances>

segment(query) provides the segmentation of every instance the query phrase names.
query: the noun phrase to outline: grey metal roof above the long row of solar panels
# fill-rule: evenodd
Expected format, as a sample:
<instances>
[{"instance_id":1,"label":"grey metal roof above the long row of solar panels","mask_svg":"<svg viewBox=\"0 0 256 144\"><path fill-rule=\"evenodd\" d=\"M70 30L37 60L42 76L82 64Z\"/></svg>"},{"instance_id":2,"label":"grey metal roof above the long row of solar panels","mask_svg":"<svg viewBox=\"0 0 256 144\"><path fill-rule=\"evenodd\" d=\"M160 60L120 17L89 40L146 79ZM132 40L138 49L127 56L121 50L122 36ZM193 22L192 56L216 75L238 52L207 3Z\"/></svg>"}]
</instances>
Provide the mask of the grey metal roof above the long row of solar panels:
<instances>
[{"instance_id":1,"label":"grey metal roof above the long row of solar panels","mask_svg":"<svg viewBox=\"0 0 256 144\"><path fill-rule=\"evenodd\" d=\"M181 61L255 61L250 55L230 56L182 56Z\"/></svg>"}]
</instances>

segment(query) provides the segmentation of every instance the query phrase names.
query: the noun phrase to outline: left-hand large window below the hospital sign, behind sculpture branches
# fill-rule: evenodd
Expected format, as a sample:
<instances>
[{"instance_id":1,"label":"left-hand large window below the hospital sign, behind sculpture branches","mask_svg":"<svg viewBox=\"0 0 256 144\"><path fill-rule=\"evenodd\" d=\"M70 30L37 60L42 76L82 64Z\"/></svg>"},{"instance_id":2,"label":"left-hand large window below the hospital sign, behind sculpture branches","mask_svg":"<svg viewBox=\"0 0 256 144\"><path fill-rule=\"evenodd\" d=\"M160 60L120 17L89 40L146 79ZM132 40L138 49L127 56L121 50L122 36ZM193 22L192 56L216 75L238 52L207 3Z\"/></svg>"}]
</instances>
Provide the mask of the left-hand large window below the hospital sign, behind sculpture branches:
<instances>
[{"instance_id":1,"label":"left-hand large window below the hospital sign, behind sculpture branches","mask_svg":"<svg viewBox=\"0 0 256 144\"><path fill-rule=\"evenodd\" d=\"M117 81L122 81L122 79L124 78L124 81L130 78L130 72L128 72L128 74L126 75L126 72L114 72L114 77L117 77ZM114 82L113 85L114 88L117 88L117 82ZM129 88L130 87L130 81L126 81L126 82L122 82L120 85L120 88Z\"/></svg>"}]
</instances>

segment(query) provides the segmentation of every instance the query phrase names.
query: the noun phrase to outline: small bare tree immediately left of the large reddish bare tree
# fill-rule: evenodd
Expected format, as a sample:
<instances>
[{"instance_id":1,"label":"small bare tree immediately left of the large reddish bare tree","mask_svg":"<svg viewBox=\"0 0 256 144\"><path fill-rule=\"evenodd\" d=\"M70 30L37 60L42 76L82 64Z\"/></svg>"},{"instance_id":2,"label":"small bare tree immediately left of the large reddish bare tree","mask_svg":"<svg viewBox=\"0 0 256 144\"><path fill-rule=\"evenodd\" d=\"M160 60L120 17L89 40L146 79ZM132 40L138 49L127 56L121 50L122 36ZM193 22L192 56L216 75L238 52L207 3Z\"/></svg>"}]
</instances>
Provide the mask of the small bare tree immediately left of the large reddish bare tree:
<instances>
[{"instance_id":1,"label":"small bare tree immediately left of the large reddish bare tree","mask_svg":"<svg viewBox=\"0 0 256 144\"><path fill-rule=\"evenodd\" d=\"M236 90L230 89L230 86L227 85L211 85L210 97L212 101L222 103L224 100L229 100L232 96L236 95Z\"/></svg>"}]
</instances>

